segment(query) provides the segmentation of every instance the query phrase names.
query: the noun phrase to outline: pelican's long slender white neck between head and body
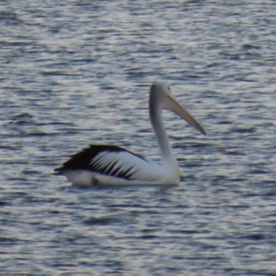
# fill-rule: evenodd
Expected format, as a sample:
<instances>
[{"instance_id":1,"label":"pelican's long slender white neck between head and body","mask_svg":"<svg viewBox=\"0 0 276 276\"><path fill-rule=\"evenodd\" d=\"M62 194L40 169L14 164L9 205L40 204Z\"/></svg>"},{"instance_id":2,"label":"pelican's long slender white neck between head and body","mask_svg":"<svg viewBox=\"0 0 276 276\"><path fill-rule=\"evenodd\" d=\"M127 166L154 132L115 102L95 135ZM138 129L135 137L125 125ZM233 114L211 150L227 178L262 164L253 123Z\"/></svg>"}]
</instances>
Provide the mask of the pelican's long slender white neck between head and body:
<instances>
[{"instance_id":1,"label":"pelican's long slender white neck between head and body","mask_svg":"<svg viewBox=\"0 0 276 276\"><path fill-rule=\"evenodd\" d=\"M177 159L175 158L172 148L170 147L170 141L168 140L168 135L163 124L161 112L162 110L159 108L158 104L154 101L150 101L150 121L152 128L155 131L155 137L161 153L162 164L166 164L168 162L177 164Z\"/></svg>"}]
</instances>

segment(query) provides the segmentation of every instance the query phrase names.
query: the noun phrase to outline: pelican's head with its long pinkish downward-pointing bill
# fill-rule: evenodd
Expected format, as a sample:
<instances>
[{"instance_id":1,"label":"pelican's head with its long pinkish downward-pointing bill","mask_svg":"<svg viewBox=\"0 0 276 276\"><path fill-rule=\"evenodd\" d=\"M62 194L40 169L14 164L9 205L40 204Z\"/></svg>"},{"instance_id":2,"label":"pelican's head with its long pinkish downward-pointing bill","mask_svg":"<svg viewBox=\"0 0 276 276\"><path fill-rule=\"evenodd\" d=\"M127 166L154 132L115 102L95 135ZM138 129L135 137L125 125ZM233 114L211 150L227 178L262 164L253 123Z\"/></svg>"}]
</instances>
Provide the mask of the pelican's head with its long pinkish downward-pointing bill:
<instances>
[{"instance_id":1,"label":"pelican's head with its long pinkish downward-pointing bill","mask_svg":"<svg viewBox=\"0 0 276 276\"><path fill-rule=\"evenodd\" d=\"M206 135L204 129L201 128L193 116L190 115L172 95L170 86L166 86L164 83L159 82L152 83L150 86L150 117L152 117L153 113L157 112L157 110L163 109L172 110L190 124L190 126L193 126L195 129L199 130L199 132Z\"/></svg>"}]
</instances>

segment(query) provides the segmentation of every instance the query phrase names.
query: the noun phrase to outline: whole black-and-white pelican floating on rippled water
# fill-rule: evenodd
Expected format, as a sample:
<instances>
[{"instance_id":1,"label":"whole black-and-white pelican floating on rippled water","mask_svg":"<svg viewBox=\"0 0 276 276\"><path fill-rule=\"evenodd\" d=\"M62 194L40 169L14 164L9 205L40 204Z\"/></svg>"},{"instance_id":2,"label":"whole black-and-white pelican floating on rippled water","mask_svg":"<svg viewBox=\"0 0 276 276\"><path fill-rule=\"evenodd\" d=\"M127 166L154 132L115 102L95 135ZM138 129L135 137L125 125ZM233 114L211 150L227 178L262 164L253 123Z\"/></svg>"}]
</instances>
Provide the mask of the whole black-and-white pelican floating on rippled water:
<instances>
[{"instance_id":1,"label":"whole black-and-white pelican floating on rippled water","mask_svg":"<svg viewBox=\"0 0 276 276\"><path fill-rule=\"evenodd\" d=\"M163 124L162 110L172 110L190 126L206 135L203 128L175 99L169 86L155 82L150 86L149 113L155 132L161 164L119 146L90 145L72 155L55 171L75 186L179 184L179 166Z\"/></svg>"}]
</instances>

